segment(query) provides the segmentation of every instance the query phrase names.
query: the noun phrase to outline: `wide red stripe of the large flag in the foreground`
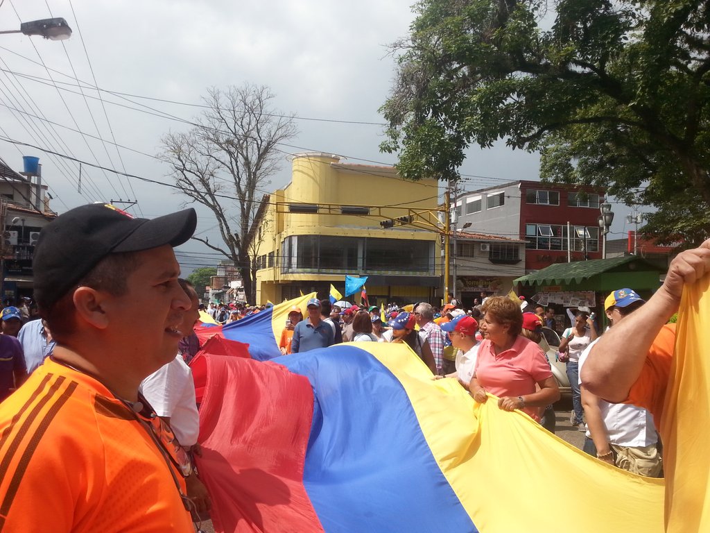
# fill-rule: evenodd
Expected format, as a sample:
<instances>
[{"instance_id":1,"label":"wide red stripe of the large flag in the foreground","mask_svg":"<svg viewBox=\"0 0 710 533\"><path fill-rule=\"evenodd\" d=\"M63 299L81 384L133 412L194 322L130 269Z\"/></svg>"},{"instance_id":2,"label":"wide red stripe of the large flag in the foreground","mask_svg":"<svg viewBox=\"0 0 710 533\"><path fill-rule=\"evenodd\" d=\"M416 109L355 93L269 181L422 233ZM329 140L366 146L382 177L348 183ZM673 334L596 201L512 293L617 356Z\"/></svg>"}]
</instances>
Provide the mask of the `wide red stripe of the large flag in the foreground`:
<instances>
[{"instance_id":1,"label":"wide red stripe of the large flag in the foreground","mask_svg":"<svg viewBox=\"0 0 710 533\"><path fill-rule=\"evenodd\" d=\"M310 382L271 362L213 353L198 355L192 367L201 367L206 376L203 456L197 465L212 496L215 529L322 532L303 486L313 411Z\"/></svg>"}]
</instances>

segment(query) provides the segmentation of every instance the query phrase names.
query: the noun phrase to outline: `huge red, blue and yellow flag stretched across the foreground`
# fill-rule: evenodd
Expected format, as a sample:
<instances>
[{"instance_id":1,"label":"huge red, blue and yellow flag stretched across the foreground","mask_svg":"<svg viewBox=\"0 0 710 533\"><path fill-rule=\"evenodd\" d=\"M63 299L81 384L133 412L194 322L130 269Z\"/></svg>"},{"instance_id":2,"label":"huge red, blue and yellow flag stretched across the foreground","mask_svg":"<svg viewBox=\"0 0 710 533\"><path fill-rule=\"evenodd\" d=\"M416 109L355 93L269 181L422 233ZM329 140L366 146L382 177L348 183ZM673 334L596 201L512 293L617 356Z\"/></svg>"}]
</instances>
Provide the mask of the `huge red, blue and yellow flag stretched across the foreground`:
<instances>
[{"instance_id":1,"label":"huge red, blue and yellow flag stretched across the foreground","mask_svg":"<svg viewBox=\"0 0 710 533\"><path fill-rule=\"evenodd\" d=\"M199 468L219 531L662 532L662 480L476 404L405 345L205 362Z\"/></svg>"}]
</instances>

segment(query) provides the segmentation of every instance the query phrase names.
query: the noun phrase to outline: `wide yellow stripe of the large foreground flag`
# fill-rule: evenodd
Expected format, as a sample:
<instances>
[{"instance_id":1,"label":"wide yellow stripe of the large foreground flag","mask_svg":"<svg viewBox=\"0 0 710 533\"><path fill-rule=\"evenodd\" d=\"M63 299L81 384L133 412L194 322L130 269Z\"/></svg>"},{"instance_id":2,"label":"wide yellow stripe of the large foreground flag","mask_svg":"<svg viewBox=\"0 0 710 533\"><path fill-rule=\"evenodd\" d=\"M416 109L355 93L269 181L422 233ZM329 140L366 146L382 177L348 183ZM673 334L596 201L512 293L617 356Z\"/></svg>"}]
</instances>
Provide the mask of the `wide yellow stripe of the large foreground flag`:
<instances>
[{"instance_id":1,"label":"wide yellow stripe of the large foreground flag","mask_svg":"<svg viewBox=\"0 0 710 533\"><path fill-rule=\"evenodd\" d=\"M501 411L495 397L476 404L456 379L432 379L409 352L366 344L402 383L442 473L481 533L663 531L663 480L602 463L520 411Z\"/></svg>"}]
</instances>

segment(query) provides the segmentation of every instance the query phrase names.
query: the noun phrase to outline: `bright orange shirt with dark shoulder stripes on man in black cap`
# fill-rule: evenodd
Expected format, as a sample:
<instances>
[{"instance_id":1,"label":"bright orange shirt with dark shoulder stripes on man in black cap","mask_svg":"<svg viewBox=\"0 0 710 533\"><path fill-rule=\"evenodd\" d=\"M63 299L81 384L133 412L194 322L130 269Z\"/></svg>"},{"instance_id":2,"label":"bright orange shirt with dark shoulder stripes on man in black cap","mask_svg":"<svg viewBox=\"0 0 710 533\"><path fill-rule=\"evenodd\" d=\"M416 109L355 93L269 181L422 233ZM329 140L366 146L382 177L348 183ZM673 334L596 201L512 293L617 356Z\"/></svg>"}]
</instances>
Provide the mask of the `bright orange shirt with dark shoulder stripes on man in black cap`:
<instances>
[{"instance_id":1,"label":"bright orange shirt with dark shoulder stripes on man in black cap","mask_svg":"<svg viewBox=\"0 0 710 533\"><path fill-rule=\"evenodd\" d=\"M0 531L194 531L182 475L92 377L45 360L0 404L0 435Z\"/></svg>"}]
</instances>

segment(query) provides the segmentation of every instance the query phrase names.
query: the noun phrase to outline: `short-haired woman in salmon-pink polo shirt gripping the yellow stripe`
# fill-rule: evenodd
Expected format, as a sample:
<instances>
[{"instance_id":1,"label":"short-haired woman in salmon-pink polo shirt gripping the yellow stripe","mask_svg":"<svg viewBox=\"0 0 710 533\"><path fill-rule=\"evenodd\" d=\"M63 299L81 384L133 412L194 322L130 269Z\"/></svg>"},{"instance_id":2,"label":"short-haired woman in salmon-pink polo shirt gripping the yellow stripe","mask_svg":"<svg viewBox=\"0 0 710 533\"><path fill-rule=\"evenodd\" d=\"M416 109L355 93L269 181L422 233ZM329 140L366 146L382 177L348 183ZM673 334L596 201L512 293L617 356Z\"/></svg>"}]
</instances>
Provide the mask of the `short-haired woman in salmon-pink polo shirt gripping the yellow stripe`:
<instances>
[{"instance_id":1,"label":"short-haired woman in salmon-pink polo shirt gripping the yellow stripe","mask_svg":"<svg viewBox=\"0 0 710 533\"><path fill-rule=\"evenodd\" d=\"M480 327L484 340L469 383L471 396L484 403L487 393L493 394L504 411L521 409L539 422L537 408L557 402L559 389L540 346L520 335L520 303L496 296L486 300L483 311L486 314Z\"/></svg>"}]
</instances>

